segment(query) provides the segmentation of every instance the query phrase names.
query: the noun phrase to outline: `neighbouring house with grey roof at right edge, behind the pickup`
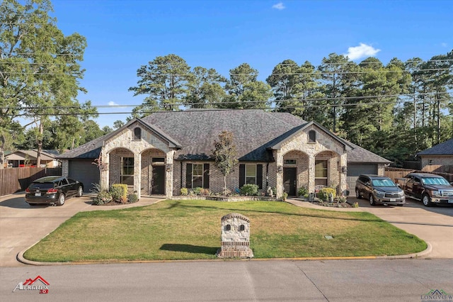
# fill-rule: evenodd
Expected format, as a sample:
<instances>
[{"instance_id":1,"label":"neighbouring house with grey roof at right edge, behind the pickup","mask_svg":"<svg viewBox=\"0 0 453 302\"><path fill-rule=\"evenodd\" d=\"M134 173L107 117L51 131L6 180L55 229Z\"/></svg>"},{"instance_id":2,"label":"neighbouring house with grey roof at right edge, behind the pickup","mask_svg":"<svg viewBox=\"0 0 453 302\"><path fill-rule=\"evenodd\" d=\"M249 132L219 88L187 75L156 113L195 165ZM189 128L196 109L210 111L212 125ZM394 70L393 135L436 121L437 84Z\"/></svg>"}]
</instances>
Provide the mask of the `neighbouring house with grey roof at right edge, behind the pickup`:
<instances>
[{"instance_id":1,"label":"neighbouring house with grey roof at right edge, behind the pickup","mask_svg":"<svg viewBox=\"0 0 453 302\"><path fill-rule=\"evenodd\" d=\"M423 170L432 165L442 167L440 172L453 173L453 138L418 152L417 156L421 159Z\"/></svg>"}]
</instances>

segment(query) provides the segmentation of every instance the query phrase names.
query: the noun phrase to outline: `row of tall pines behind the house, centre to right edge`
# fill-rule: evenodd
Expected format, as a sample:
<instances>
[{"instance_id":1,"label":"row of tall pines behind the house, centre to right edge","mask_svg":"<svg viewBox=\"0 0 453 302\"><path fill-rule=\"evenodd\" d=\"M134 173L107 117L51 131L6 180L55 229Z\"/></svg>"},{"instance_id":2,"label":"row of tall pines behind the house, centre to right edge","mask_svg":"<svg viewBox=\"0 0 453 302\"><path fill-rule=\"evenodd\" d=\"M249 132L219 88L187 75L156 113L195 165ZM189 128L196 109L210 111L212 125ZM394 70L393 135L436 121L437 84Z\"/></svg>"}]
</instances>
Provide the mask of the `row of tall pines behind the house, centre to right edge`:
<instances>
[{"instance_id":1,"label":"row of tall pines behind the house, centre to right edge","mask_svg":"<svg viewBox=\"0 0 453 302\"><path fill-rule=\"evenodd\" d=\"M229 70L191 68L178 55L137 69L132 116L184 108L260 108L317 121L341 138L397 162L453 137L453 50L430 60L375 57L355 63L331 53L321 64L278 63L265 79L247 63Z\"/></svg>"}]
</instances>

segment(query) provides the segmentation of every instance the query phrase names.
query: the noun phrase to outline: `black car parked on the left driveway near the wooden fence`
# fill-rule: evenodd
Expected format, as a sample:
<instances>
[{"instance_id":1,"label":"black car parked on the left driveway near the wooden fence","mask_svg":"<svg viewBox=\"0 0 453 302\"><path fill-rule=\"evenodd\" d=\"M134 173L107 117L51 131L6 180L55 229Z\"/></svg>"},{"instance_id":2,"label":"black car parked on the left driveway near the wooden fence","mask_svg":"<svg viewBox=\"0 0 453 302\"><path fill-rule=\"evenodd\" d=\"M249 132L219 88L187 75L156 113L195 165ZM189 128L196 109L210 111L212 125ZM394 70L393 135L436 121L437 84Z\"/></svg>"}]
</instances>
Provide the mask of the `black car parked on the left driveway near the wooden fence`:
<instances>
[{"instance_id":1,"label":"black car parked on the left driveway near the wooden fence","mask_svg":"<svg viewBox=\"0 0 453 302\"><path fill-rule=\"evenodd\" d=\"M63 206L72 196L81 197L84 184L68 177L42 177L33 181L25 190L25 201L30 205L49 204Z\"/></svg>"}]
</instances>

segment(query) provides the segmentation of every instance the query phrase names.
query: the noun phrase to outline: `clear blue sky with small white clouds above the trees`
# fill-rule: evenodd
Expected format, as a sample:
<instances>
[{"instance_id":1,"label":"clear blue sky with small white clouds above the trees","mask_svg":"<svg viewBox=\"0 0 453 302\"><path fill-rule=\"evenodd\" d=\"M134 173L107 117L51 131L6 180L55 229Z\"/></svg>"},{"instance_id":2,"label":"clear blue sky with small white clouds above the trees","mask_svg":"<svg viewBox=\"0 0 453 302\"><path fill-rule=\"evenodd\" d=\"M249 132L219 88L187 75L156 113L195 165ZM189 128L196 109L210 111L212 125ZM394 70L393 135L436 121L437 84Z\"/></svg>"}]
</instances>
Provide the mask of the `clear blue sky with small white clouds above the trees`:
<instances>
[{"instance_id":1,"label":"clear blue sky with small white clouds above the trees","mask_svg":"<svg viewBox=\"0 0 453 302\"><path fill-rule=\"evenodd\" d=\"M291 59L317 66L330 53L355 62L369 56L429 60L453 49L453 1L127 1L53 0L57 26L80 33L88 47L81 86L95 106L142 104L128 91L137 69L175 54L190 67L214 68L224 77L246 62L265 80ZM123 112L132 108L98 108ZM128 114L100 115L101 125Z\"/></svg>"}]
</instances>

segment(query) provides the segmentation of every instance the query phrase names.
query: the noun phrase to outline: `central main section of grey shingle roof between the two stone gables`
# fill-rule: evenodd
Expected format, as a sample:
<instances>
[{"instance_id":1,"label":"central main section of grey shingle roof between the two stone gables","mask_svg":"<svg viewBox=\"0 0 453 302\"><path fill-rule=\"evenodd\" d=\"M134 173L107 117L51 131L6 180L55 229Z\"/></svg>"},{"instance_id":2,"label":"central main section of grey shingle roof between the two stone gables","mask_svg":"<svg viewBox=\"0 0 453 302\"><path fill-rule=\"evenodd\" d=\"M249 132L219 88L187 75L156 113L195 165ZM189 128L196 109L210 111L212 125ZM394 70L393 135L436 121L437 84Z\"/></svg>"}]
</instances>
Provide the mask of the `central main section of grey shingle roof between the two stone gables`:
<instances>
[{"instance_id":1,"label":"central main section of grey shingle roof between the two stone gables","mask_svg":"<svg viewBox=\"0 0 453 302\"><path fill-rule=\"evenodd\" d=\"M289 113L252 110L189 110L159 112L143 118L176 138L183 149L176 152L178 160L207 160L214 140L223 130L234 133L239 160L269 161L270 140L306 123Z\"/></svg>"}]
</instances>

